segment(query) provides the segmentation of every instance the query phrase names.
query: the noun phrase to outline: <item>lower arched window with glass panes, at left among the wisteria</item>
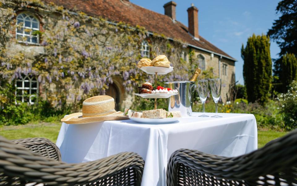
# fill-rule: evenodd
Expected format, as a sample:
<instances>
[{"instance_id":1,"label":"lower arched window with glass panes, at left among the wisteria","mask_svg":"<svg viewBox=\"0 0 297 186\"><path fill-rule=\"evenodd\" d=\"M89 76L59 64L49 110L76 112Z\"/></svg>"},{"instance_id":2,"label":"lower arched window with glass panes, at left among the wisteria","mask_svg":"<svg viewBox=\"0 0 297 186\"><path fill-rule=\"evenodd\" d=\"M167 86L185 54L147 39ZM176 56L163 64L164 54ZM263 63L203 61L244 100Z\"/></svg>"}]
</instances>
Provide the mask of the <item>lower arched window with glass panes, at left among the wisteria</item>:
<instances>
[{"instance_id":1,"label":"lower arched window with glass panes, at left among the wisteria","mask_svg":"<svg viewBox=\"0 0 297 186\"><path fill-rule=\"evenodd\" d=\"M27 75L15 81L15 103L34 104L38 96L38 81L35 77Z\"/></svg>"}]
</instances>

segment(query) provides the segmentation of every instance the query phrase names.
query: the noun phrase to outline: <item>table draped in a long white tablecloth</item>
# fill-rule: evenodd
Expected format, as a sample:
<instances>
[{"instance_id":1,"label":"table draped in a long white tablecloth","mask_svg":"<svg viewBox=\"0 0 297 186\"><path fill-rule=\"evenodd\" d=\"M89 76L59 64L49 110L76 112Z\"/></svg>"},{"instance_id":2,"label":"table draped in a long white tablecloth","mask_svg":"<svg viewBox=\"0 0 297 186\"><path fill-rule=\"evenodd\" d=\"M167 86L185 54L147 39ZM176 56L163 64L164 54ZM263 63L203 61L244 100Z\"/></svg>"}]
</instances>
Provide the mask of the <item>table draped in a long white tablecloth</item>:
<instances>
[{"instance_id":1,"label":"table draped in a long white tablecloth","mask_svg":"<svg viewBox=\"0 0 297 186\"><path fill-rule=\"evenodd\" d=\"M201 113L193 113L200 115ZM206 113L214 115L214 113ZM233 157L257 149L252 114L219 113L222 118L182 117L171 124L139 124L132 120L81 125L62 123L57 145L62 161L81 163L131 151L145 160L143 186L166 185L167 161L179 148Z\"/></svg>"}]
</instances>

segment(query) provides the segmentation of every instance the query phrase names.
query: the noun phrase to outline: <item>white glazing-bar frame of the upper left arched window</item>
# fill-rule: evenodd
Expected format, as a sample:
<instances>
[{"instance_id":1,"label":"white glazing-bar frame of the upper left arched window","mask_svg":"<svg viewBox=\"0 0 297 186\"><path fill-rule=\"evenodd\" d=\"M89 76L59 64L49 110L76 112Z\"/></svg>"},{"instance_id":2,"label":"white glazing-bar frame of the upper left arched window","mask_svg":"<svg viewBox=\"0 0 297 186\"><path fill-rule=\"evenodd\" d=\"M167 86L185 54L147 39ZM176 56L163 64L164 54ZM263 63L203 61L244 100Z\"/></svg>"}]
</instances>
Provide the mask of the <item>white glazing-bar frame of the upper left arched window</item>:
<instances>
[{"instance_id":1,"label":"white glazing-bar frame of the upper left arched window","mask_svg":"<svg viewBox=\"0 0 297 186\"><path fill-rule=\"evenodd\" d=\"M29 19L29 20L26 20L26 19ZM18 25L18 20L22 20L23 22L23 26L22 27L19 27L19 28L16 28L15 29L15 39L20 42L20 43L28 43L28 44L33 44L33 45L39 45L39 34L37 34L36 36L35 35L32 35L32 32L34 31L39 31L40 29L40 22L39 20L37 19L36 16L34 16L33 14L31 13L28 13L28 12L21 12L19 13L19 15L16 16L16 24ZM36 21L35 21L36 20ZM28 26L25 26L25 21L29 21L30 22L30 27ZM33 28L32 27L32 24L33 23L37 23L37 28ZM23 32L22 33L19 33L18 32L18 29L23 29ZM25 33L25 29L30 29L30 33ZM18 39L18 36L21 36L22 40L19 40ZM30 40L27 41L23 41L23 38L24 37L29 37ZM32 38L36 38L36 41L37 42L32 42Z\"/></svg>"}]
</instances>

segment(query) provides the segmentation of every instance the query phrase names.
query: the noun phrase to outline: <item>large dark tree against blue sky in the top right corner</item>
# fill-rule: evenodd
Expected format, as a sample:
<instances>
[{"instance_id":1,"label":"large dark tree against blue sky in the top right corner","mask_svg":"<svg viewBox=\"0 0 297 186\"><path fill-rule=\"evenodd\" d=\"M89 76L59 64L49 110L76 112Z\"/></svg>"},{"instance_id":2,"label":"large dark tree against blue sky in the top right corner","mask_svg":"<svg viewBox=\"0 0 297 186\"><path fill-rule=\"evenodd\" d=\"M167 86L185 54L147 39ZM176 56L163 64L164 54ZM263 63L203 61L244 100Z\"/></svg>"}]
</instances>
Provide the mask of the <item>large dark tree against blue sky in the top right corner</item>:
<instances>
[{"instance_id":1,"label":"large dark tree against blue sky in the top right corner","mask_svg":"<svg viewBox=\"0 0 297 186\"><path fill-rule=\"evenodd\" d=\"M281 48L280 55L297 55L297 0L282 0L276 8L281 13L268 31L268 35Z\"/></svg>"}]
</instances>

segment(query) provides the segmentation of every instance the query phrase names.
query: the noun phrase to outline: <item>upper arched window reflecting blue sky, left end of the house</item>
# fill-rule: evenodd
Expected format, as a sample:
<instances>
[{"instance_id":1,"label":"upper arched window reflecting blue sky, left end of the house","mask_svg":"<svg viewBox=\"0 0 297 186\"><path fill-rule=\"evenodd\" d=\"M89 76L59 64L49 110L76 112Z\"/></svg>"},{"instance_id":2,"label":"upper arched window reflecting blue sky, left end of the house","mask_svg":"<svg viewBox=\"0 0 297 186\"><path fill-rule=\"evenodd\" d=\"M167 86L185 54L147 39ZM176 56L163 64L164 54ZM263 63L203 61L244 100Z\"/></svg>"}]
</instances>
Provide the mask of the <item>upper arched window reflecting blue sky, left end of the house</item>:
<instances>
[{"instance_id":1,"label":"upper arched window reflecting blue sky, left end of the house","mask_svg":"<svg viewBox=\"0 0 297 186\"><path fill-rule=\"evenodd\" d=\"M16 17L15 38L19 42L27 42L31 44L39 43L39 20L30 13L23 12Z\"/></svg>"}]
</instances>

